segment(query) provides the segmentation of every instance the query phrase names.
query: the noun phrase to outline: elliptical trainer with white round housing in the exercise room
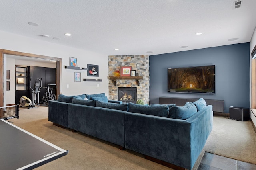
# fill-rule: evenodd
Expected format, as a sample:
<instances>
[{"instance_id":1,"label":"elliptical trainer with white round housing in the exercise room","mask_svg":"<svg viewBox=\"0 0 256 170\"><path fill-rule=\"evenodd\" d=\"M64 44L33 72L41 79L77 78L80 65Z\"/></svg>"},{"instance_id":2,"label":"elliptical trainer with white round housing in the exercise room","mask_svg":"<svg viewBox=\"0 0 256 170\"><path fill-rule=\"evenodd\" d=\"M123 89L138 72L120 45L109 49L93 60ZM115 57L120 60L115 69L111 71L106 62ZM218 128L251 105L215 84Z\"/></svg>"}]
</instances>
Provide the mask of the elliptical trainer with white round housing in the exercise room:
<instances>
[{"instance_id":1,"label":"elliptical trainer with white round housing in the exercise room","mask_svg":"<svg viewBox=\"0 0 256 170\"><path fill-rule=\"evenodd\" d=\"M37 105L40 105L39 103L39 94L40 94L40 89L42 88L42 78L41 80L39 78L36 79L34 88L31 87L31 78L30 78L30 89L32 90L32 100L27 98L26 96L22 96L20 98L20 106L22 107L29 107L31 108L36 108L36 94L38 94L38 103Z\"/></svg>"}]
</instances>

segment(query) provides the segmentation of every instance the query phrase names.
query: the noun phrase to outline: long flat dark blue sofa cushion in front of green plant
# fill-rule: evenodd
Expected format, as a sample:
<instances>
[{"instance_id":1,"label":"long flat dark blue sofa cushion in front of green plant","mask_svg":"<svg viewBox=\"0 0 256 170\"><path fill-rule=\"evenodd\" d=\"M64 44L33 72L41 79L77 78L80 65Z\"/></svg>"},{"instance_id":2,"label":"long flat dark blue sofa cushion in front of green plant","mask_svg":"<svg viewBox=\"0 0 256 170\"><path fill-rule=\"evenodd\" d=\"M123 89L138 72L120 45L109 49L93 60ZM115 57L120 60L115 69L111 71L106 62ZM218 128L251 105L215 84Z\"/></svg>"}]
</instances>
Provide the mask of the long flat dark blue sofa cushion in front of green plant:
<instances>
[{"instance_id":1,"label":"long flat dark blue sofa cushion in front of green plant","mask_svg":"<svg viewBox=\"0 0 256 170\"><path fill-rule=\"evenodd\" d=\"M140 105L134 103L128 104L129 112L161 117L168 117L168 109L169 107L167 105Z\"/></svg>"}]
</instances>

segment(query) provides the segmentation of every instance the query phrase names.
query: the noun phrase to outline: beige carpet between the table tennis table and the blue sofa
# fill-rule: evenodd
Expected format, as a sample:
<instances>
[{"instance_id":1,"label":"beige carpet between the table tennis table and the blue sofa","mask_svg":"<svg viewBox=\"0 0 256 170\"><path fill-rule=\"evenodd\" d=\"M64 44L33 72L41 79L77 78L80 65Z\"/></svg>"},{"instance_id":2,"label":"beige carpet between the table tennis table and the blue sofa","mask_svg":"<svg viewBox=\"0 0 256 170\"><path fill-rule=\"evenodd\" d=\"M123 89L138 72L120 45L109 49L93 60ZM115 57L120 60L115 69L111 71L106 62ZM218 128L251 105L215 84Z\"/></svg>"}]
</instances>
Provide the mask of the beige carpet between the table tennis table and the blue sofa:
<instances>
[{"instance_id":1,"label":"beige carpet between the table tennis table and the blue sofa","mask_svg":"<svg viewBox=\"0 0 256 170\"><path fill-rule=\"evenodd\" d=\"M70 129L54 126L48 121L48 107L20 108L20 118L10 119L14 125L69 150L66 156L44 164L36 169L54 170L171 170L131 150L120 150L118 145L85 135ZM200 164L202 152L193 170Z\"/></svg>"}]
</instances>

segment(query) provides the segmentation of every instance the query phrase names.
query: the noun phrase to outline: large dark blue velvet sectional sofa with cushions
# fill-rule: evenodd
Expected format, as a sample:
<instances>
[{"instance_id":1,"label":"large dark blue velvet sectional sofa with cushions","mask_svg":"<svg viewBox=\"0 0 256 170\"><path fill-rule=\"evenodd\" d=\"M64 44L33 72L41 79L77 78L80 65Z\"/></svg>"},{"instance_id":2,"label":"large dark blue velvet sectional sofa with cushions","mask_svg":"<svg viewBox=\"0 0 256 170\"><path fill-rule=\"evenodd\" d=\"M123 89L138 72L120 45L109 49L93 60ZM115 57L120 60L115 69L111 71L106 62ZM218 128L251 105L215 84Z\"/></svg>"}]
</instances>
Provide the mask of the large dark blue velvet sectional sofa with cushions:
<instances>
[{"instance_id":1,"label":"large dark blue velvet sectional sofa with cushions","mask_svg":"<svg viewBox=\"0 0 256 170\"><path fill-rule=\"evenodd\" d=\"M202 98L147 106L83 97L49 101L49 121L184 169L192 169L212 130L212 106Z\"/></svg>"}]
</instances>

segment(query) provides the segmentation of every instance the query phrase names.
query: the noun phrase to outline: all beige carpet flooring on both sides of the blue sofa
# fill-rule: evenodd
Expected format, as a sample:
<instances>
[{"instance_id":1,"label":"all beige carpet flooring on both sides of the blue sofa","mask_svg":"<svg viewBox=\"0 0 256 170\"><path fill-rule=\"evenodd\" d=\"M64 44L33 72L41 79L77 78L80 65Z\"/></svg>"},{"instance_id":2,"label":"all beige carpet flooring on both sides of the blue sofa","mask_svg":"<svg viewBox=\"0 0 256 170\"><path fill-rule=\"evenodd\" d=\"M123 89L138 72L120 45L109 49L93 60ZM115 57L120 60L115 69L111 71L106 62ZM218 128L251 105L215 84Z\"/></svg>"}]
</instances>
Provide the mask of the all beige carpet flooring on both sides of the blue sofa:
<instances>
[{"instance_id":1,"label":"all beige carpet flooring on both sides of the blue sofa","mask_svg":"<svg viewBox=\"0 0 256 170\"><path fill-rule=\"evenodd\" d=\"M171 170L146 160L137 152L128 149L122 151L118 145L80 132L73 133L68 128L54 126L48 121L48 107L39 106L34 109L21 107L20 118L9 121L62 149L69 150L68 155L36 168L38 170L52 168L56 170ZM240 135L237 135L238 132ZM254 163L255 149L256 134L250 121L239 122L214 116L213 131L192 170L197 170L204 151Z\"/></svg>"}]
</instances>

